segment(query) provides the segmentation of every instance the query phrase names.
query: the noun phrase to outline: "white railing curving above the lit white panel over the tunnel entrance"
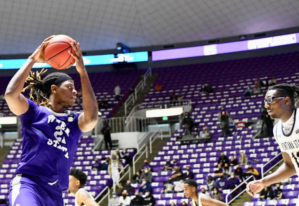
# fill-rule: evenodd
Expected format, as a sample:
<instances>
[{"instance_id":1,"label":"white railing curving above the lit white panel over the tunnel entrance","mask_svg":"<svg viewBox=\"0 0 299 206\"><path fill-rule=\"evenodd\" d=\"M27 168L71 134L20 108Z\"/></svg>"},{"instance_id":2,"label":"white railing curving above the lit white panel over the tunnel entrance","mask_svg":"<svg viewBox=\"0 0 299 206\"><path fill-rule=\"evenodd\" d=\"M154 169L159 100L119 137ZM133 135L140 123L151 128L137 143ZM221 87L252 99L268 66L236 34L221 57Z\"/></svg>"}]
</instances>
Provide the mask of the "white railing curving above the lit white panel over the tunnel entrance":
<instances>
[{"instance_id":1,"label":"white railing curving above the lit white panel over the tunnel entrance","mask_svg":"<svg viewBox=\"0 0 299 206\"><path fill-rule=\"evenodd\" d=\"M154 109L154 108L165 109L170 107L188 106L191 105L191 103L192 102L190 99L180 99L180 100L171 100L171 101L167 100L167 101L159 101L159 102L144 102L142 104L135 105L132 108L127 118L134 116L134 113L137 112L138 110Z\"/></svg>"}]
</instances>

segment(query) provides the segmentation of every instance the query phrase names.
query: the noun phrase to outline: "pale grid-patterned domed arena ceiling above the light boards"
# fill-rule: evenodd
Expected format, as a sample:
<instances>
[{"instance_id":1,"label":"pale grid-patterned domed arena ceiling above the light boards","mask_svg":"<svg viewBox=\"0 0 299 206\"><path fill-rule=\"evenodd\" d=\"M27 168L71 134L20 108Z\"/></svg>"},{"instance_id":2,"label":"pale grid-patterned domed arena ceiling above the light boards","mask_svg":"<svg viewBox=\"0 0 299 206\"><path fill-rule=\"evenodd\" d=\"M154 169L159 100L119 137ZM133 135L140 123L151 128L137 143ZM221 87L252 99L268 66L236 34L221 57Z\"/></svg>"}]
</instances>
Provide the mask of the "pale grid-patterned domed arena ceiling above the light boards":
<instances>
[{"instance_id":1,"label":"pale grid-patterned domed arena ceiling above the light boards","mask_svg":"<svg viewBox=\"0 0 299 206\"><path fill-rule=\"evenodd\" d=\"M299 26L298 0L1 0L0 54L52 34L83 50L199 41Z\"/></svg>"}]
</instances>

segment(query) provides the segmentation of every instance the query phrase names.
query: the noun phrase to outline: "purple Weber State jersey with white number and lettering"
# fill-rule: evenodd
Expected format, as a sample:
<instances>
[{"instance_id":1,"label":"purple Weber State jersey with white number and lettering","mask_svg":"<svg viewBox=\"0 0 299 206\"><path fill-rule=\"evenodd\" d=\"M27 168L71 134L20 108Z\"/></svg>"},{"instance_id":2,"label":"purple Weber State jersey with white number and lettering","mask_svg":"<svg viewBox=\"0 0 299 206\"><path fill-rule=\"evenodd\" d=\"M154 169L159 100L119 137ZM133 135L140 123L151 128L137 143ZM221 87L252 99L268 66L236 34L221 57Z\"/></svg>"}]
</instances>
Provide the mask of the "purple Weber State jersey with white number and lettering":
<instances>
[{"instance_id":1,"label":"purple Weber State jersey with white number and lettering","mask_svg":"<svg viewBox=\"0 0 299 206\"><path fill-rule=\"evenodd\" d=\"M22 154L15 174L38 178L60 190L68 189L68 175L83 132L80 114L56 113L27 99L28 111L20 115Z\"/></svg>"}]
</instances>

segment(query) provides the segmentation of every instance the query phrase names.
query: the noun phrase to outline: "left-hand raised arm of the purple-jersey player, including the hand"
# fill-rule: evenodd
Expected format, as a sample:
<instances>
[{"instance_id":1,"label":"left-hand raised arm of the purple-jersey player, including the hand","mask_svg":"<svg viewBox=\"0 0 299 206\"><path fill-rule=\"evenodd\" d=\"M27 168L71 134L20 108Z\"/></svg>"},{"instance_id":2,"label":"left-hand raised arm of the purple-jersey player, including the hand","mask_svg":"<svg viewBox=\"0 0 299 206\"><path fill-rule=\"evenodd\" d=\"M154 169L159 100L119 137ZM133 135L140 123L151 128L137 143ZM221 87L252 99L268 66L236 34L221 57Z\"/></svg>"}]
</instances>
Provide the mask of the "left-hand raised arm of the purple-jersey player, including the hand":
<instances>
[{"instance_id":1,"label":"left-hand raised arm of the purple-jersey player, including the hand","mask_svg":"<svg viewBox=\"0 0 299 206\"><path fill-rule=\"evenodd\" d=\"M53 35L55 36L55 35ZM37 47L37 49L33 52L32 55L29 56L27 61L23 64L23 66L16 72L13 78L7 85L5 91L5 100L8 104L10 111L12 111L15 115L21 115L27 112L29 105L24 95L21 94L26 77L30 72L33 64L35 62L45 62L44 58L44 49L48 44L49 40L53 38L53 36L45 39L42 44Z\"/></svg>"}]
</instances>

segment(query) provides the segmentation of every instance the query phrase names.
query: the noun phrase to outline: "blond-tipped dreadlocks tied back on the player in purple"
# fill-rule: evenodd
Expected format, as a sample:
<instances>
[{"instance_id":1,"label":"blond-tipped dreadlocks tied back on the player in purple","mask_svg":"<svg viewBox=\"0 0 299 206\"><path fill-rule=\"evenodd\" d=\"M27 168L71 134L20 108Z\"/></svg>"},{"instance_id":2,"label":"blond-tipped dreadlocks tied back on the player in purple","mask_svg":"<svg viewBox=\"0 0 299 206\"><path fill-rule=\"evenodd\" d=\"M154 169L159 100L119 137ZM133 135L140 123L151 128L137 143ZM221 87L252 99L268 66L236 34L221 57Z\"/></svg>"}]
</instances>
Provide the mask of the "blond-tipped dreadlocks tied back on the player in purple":
<instances>
[{"instance_id":1,"label":"blond-tipped dreadlocks tied back on the player in purple","mask_svg":"<svg viewBox=\"0 0 299 206\"><path fill-rule=\"evenodd\" d=\"M55 84L59 86L61 82L64 82L68 79L71 79L67 74L61 72L51 73L43 80L41 80L41 76L47 70L42 69L40 72L36 71L36 74L30 70L25 82L29 85L25 87L22 92L27 89L30 89L30 99L36 104L42 106L48 106L50 104L49 97L51 94L51 85Z\"/></svg>"}]
</instances>

